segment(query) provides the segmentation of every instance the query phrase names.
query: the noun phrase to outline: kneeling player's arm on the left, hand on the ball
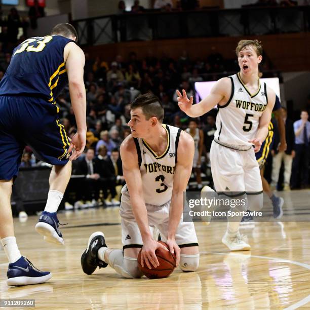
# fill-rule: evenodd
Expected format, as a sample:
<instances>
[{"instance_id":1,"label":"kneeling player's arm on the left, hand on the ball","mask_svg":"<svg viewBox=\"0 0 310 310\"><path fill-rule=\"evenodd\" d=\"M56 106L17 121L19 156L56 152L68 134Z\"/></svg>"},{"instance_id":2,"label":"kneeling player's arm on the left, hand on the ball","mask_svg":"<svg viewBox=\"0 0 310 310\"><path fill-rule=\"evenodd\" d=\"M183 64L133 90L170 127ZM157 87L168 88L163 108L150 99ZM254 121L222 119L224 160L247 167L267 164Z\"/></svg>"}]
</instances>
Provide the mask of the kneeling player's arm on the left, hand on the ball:
<instances>
[{"instance_id":1,"label":"kneeling player's arm on the left, hand on the ball","mask_svg":"<svg viewBox=\"0 0 310 310\"><path fill-rule=\"evenodd\" d=\"M159 261L155 254L156 249L162 247L167 250L167 248L159 242L154 241L149 231L147 210L142 190L141 172L138 166L138 154L131 135L122 142L120 152L123 163L123 174L130 193L132 212L143 241L141 265L143 267L145 262L147 267L151 269L151 265L154 267L159 266Z\"/></svg>"}]
</instances>

